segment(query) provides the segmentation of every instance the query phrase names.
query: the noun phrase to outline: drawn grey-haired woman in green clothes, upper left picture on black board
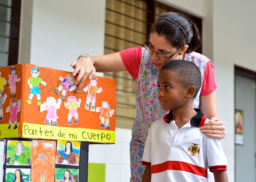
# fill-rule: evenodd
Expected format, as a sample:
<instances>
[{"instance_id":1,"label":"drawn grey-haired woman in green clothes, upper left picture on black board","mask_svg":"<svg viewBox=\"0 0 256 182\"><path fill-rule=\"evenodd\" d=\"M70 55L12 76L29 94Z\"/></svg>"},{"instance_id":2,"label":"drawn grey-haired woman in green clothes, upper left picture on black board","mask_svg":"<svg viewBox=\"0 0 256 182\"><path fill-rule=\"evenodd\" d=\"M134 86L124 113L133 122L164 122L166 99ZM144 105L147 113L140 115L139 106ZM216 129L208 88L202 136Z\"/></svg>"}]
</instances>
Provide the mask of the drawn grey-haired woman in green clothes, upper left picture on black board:
<instances>
[{"instance_id":1,"label":"drawn grey-haired woman in green clothes, upper left picture on black board","mask_svg":"<svg viewBox=\"0 0 256 182\"><path fill-rule=\"evenodd\" d=\"M28 157L21 141L16 144L15 155L10 159L10 165L28 165Z\"/></svg>"}]
</instances>

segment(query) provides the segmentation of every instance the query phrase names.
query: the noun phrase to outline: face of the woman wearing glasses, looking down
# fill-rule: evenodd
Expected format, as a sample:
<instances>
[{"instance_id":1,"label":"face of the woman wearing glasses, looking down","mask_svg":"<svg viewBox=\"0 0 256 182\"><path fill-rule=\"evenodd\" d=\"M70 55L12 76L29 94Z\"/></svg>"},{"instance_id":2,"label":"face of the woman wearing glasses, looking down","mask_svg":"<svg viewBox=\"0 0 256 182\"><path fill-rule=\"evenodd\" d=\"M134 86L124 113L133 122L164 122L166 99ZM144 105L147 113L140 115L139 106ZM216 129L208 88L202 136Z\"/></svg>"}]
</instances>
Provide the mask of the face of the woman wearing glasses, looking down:
<instances>
[{"instance_id":1,"label":"face of the woman wearing glasses, looking down","mask_svg":"<svg viewBox=\"0 0 256 182\"><path fill-rule=\"evenodd\" d=\"M155 52L169 56L173 54L175 51L177 51L177 48L170 45L170 43L167 42L164 36L158 35L157 33L151 33L150 39L149 39L149 48L153 49ZM157 57L156 53L154 52L149 53L149 56L151 57L151 62L153 63L154 67L158 70L160 70L168 61L180 59L179 53L182 51L178 51L174 56L169 60L164 60L159 57Z\"/></svg>"}]
</instances>

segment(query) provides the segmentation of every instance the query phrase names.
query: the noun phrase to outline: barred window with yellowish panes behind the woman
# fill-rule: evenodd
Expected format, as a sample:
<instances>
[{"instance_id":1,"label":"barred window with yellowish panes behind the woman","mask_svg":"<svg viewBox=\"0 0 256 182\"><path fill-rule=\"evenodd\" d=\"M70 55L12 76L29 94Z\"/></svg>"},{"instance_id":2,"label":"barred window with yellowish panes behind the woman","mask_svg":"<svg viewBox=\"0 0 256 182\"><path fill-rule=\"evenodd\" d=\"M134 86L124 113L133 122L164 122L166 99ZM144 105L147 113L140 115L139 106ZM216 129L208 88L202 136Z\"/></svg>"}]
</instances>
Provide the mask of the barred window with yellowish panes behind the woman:
<instances>
[{"instance_id":1,"label":"barred window with yellowish panes behind the woman","mask_svg":"<svg viewBox=\"0 0 256 182\"><path fill-rule=\"evenodd\" d=\"M201 31L202 19L155 0L106 0L105 54L144 46L151 23L168 11L185 14L199 25ZM201 53L201 49L197 52ZM116 126L132 128L136 115L137 81L127 71L105 73L104 76L117 79Z\"/></svg>"}]
</instances>

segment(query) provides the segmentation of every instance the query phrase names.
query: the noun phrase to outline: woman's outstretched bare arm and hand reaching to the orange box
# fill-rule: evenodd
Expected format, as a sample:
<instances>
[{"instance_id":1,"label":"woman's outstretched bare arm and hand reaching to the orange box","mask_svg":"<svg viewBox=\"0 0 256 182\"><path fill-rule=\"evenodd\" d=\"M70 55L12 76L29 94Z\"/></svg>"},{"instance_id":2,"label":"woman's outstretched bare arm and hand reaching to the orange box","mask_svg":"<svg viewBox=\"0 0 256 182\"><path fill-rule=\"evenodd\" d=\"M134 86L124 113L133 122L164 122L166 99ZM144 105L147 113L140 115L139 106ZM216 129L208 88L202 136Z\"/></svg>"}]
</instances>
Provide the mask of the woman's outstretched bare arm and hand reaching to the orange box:
<instances>
[{"instance_id":1,"label":"woman's outstretched bare arm and hand reaching to the orange box","mask_svg":"<svg viewBox=\"0 0 256 182\"><path fill-rule=\"evenodd\" d=\"M88 57L81 57L78 58L77 61L71 63L71 66L75 69L73 71L73 76L79 73L74 83L75 85L79 83L77 87L78 92L83 87L88 75L90 75L89 79L93 78L96 70L97 72L115 72L126 70L119 52L103 56L95 56L91 57L91 59Z\"/></svg>"}]
</instances>

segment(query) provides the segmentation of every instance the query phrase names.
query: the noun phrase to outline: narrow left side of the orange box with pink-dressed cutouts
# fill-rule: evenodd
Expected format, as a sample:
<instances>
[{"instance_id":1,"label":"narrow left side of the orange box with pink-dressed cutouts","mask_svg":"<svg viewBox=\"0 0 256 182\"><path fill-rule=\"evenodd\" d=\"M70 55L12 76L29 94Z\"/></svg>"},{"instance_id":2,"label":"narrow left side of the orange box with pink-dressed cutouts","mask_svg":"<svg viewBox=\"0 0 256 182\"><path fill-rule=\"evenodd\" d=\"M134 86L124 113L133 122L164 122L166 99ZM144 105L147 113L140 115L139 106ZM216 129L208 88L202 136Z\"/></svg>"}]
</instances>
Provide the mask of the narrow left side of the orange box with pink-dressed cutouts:
<instances>
[{"instance_id":1,"label":"narrow left side of the orange box with pink-dressed cutouts","mask_svg":"<svg viewBox=\"0 0 256 182\"><path fill-rule=\"evenodd\" d=\"M0 138L19 136L22 64L0 68Z\"/></svg>"}]
</instances>

